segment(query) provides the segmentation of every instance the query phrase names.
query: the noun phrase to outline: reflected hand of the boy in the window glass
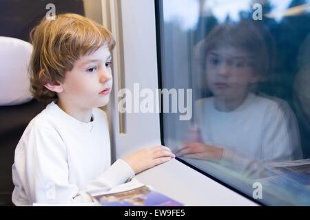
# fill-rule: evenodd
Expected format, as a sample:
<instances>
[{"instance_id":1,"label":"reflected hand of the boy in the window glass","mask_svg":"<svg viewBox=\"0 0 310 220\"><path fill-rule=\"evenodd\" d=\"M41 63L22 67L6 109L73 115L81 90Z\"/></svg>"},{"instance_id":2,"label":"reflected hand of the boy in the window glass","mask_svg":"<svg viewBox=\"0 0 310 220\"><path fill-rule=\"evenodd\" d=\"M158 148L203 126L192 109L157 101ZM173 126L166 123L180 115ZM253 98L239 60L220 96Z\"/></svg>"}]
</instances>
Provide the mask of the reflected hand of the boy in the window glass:
<instances>
[{"instance_id":1,"label":"reflected hand of the boy in the window glass","mask_svg":"<svg viewBox=\"0 0 310 220\"><path fill-rule=\"evenodd\" d=\"M222 159L223 148L209 146L203 143L185 143L176 151L176 156L195 159Z\"/></svg>"}]
</instances>

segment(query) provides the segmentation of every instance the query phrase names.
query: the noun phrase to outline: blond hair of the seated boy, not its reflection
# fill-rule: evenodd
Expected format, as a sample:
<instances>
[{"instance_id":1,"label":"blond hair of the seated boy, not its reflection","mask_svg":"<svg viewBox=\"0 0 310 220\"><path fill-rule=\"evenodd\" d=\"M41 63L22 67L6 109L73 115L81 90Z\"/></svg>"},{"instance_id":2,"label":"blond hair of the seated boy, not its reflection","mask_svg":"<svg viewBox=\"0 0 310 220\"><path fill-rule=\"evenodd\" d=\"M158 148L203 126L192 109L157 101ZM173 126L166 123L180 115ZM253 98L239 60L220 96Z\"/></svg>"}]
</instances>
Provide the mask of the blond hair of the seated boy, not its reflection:
<instances>
[{"instance_id":1,"label":"blond hair of the seated boy, not its reflection","mask_svg":"<svg viewBox=\"0 0 310 220\"><path fill-rule=\"evenodd\" d=\"M46 83L63 82L81 56L107 45L115 46L111 32L99 23L79 14L59 14L56 19L42 19L30 33L33 45L30 61L30 91L41 102L58 100Z\"/></svg>"}]
</instances>

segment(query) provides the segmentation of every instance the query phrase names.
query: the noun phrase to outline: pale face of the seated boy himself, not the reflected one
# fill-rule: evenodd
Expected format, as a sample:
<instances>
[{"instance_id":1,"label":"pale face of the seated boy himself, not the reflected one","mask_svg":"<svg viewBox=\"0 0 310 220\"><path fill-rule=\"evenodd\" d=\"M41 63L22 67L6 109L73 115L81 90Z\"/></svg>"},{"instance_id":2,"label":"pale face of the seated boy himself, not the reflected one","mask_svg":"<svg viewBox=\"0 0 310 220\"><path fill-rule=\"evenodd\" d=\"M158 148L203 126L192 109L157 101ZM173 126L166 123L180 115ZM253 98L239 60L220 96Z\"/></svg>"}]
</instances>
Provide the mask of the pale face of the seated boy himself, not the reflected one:
<instances>
[{"instance_id":1,"label":"pale face of the seated boy himself, not the reflected one","mask_svg":"<svg viewBox=\"0 0 310 220\"><path fill-rule=\"evenodd\" d=\"M65 73L59 98L79 108L102 107L112 90L111 54L106 45L90 55L82 56Z\"/></svg>"}]
</instances>

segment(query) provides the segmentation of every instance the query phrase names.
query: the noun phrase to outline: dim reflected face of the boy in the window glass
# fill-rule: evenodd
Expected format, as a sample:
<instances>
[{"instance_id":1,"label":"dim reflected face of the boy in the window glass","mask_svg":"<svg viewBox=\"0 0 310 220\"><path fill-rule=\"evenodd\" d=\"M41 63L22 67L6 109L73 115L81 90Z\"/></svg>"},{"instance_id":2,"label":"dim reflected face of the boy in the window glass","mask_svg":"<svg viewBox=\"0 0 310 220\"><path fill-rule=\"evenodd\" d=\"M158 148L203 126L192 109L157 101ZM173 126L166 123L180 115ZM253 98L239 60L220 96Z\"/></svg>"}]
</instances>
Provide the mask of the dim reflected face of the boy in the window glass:
<instances>
[{"instance_id":1,"label":"dim reflected face of the boy in the window glass","mask_svg":"<svg viewBox=\"0 0 310 220\"><path fill-rule=\"evenodd\" d=\"M244 98L249 84L259 79L254 69L254 57L230 45L207 53L205 74L211 92L224 100Z\"/></svg>"}]
</instances>

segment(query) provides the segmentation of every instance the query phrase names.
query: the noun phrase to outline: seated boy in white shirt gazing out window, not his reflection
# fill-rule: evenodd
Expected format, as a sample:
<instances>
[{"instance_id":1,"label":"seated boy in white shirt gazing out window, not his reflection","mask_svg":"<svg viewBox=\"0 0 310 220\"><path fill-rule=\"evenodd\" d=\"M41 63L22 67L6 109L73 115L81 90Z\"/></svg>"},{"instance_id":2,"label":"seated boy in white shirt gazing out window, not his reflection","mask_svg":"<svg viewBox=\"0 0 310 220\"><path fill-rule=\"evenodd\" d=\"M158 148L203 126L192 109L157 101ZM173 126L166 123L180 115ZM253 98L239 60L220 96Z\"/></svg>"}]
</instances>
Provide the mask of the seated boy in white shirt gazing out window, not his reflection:
<instances>
[{"instance_id":1,"label":"seated boy in white shirt gazing out window, not his reflection","mask_svg":"<svg viewBox=\"0 0 310 220\"><path fill-rule=\"evenodd\" d=\"M28 124L12 166L17 206L90 202L87 193L109 188L167 162L165 146L145 148L110 166L107 116L97 107L112 89L112 34L77 14L43 19L32 31L32 94L50 102Z\"/></svg>"}]
</instances>

